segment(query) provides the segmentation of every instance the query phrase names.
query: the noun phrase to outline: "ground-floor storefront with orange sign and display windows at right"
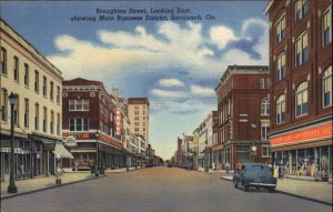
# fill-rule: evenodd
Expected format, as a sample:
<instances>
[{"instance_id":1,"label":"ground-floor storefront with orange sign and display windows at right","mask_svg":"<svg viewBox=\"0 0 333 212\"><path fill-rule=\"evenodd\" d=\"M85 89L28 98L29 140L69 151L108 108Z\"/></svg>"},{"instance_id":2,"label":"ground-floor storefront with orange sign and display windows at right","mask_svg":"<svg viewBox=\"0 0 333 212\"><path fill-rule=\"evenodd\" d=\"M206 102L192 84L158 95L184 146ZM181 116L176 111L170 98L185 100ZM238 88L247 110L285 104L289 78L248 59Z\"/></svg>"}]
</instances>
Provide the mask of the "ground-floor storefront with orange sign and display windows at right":
<instances>
[{"instance_id":1,"label":"ground-floor storefront with orange sign and display windows at right","mask_svg":"<svg viewBox=\"0 0 333 212\"><path fill-rule=\"evenodd\" d=\"M317 124L273 135L274 163L285 166L285 175L327 180L332 175L332 123Z\"/></svg>"}]
</instances>

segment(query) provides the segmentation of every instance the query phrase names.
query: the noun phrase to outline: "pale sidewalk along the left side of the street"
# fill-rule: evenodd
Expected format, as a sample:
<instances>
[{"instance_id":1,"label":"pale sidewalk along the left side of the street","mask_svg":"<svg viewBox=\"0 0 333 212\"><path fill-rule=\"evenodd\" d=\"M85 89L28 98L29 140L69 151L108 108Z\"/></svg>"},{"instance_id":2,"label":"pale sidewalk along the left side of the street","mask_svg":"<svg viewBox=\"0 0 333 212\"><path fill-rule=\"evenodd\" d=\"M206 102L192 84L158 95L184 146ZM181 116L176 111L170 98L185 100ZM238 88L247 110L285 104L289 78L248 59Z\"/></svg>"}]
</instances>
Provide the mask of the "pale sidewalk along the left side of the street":
<instances>
[{"instance_id":1,"label":"pale sidewalk along the left side of the street","mask_svg":"<svg viewBox=\"0 0 333 212\"><path fill-rule=\"evenodd\" d=\"M135 170L135 168L129 168L129 171ZM139 169L138 169L139 170ZM127 172L127 169L117 169L117 170L107 170L105 173L123 173ZM61 185L72 184L77 182L82 182L87 180L93 180L98 178L103 178L104 175L94 176L90 171L79 171L79 172L68 172L61 176ZM34 178L28 180L16 181L18 188L18 193L8 193L9 182L1 182L1 199L7 199L11 196L22 195L27 193L32 193L37 191L42 191L47 189L52 189L56 186L61 186L56 184L56 176L43 176Z\"/></svg>"}]
</instances>

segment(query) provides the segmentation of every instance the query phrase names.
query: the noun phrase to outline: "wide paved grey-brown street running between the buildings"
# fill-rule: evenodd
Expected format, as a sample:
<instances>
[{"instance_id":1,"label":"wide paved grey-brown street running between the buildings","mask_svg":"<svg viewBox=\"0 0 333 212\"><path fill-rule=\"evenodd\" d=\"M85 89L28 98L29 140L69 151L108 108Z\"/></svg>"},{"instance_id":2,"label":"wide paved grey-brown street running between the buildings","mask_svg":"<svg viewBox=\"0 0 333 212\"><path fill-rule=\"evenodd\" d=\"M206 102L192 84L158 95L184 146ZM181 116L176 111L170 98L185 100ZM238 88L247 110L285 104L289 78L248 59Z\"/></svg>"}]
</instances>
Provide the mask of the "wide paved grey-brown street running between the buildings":
<instances>
[{"instance_id":1,"label":"wide paved grey-brown street running between the buildings","mask_svg":"<svg viewBox=\"0 0 333 212\"><path fill-rule=\"evenodd\" d=\"M264 190L234 189L219 174L152 168L2 200L2 211L330 212L332 206Z\"/></svg>"}]
</instances>

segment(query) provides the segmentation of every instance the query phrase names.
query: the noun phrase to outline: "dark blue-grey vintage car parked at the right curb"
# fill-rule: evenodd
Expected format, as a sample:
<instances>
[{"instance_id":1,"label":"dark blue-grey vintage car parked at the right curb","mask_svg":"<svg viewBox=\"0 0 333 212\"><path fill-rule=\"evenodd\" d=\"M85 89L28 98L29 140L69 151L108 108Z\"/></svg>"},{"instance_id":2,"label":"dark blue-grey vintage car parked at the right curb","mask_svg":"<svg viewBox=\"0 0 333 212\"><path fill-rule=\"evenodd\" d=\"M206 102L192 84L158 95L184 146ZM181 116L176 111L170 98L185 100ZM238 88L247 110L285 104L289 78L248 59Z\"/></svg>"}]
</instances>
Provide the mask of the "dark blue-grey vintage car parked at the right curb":
<instances>
[{"instance_id":1,"label":"dark blue-grey vintage car parked at the right curb","mask_svg":"<svg viewBox=\"0 0 333 212\"><path fill-rule=\"evenodd\" d=\"M275 191L276 179L272 175L272 169L262 163L245 163L242 169L233 175L234 188L242 186L249 191L250 186L265 188L270 192Z\"/></svg>"}]
</instances>

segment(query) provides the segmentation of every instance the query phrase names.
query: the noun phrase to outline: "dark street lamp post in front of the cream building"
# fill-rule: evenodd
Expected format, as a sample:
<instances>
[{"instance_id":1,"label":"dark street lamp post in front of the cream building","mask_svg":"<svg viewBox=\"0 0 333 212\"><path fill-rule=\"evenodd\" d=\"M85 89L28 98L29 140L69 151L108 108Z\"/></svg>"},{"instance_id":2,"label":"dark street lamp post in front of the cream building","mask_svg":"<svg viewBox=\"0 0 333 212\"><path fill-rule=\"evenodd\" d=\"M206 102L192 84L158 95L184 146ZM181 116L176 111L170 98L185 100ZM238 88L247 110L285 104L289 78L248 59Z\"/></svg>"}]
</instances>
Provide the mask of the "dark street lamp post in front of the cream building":
<instances>
[{"instance_id":1,"label":"dark street lamp post in front of the cream building","mask_svg":"<svg viewBox=\"0 0 333 212\"><path fill-rule=\"evenodd\" d=\"M11 135L11 142L10 142L10 182L8 186L8 193L18 193L18 188L16 186L16 179L14 179L14 113L13 113L13 107L16 102L18 101L18 95L13 94L13 92L10 93L8 97L9 103L10 103L10 135Z\"/></svg>"}]
</instances>

